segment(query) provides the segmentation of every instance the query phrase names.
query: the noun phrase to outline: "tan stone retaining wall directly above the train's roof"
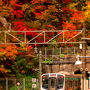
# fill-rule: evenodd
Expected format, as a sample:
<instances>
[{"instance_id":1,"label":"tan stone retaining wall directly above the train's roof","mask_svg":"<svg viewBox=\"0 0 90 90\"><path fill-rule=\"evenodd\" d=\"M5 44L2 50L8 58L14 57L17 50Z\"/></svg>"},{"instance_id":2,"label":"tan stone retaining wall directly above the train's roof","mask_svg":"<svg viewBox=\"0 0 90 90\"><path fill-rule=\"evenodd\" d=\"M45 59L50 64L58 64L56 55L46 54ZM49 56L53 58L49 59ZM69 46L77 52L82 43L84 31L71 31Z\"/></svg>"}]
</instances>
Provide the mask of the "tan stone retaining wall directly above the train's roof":
<instances>
[{"instance_id":1,"label":"tan stone retaining wall directly above the train's roof","mask_svg":"<svg viewBox=\"0 0 90 90\"><path fill-rule=\"evenodd\" d=\"M79 70L80 67L81 67L80 65L75 66L73 64L46 65L45 71L46 71L46 73L57 73L60 71L74 73L75 71Z\"/></svg>"}]
</instances>

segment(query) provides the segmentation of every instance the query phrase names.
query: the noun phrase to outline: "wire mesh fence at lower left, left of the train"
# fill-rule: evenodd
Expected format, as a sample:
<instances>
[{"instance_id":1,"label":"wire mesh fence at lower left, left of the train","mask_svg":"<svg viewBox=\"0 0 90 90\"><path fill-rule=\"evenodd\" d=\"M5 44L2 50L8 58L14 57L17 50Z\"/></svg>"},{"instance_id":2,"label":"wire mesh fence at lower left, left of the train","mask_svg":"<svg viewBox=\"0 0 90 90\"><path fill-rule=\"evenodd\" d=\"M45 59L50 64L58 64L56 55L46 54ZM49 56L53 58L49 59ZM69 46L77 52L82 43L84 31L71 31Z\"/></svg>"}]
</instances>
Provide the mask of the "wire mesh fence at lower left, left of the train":
<instances>
[{"instance_id":1,"label":"wire mesh fence at lower left, left of the train","mask_svg":"<svg viewBox=\"0 0 90 90\"><path fill-rule=\"evenodd\" d=\"M0 78L0 90L39 90L39 80Z\"/></svg>"}]
</instances>

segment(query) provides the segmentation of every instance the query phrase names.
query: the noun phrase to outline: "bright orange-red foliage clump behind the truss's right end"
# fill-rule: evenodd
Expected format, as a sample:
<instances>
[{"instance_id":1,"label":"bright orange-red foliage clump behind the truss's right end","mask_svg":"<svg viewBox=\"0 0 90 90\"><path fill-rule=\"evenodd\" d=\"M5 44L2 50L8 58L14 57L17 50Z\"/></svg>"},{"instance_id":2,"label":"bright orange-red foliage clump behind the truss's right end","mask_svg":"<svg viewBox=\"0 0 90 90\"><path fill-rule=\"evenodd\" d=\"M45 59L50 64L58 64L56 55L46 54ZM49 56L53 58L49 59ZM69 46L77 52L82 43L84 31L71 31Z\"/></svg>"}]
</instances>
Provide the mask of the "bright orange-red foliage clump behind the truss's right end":
<instances>
[{"instance_id":1,"label":"bright orange-red foliage clump behind the truss's right end","mask_svg":"<svg viewBox=\"0 0 90 90\"><path fill-rule=\"evenodd\" d=\"M66 30L66 31L65 31ZM69 30L69 31L68 31ZM74 36L78 34L78 31L74 31L76 30L76 26L73 23L68 23L68 22L63 22L63 32L58 32L58 34L60 34L59 36L59 41L60 42L75 42L78 39ZM63 35L64 35L64 39L63 39ZM62 46L64 46L64 44L62 44ZM69 46L71 47L72 44L69 44Z\"/></svg>"}]
</instances>

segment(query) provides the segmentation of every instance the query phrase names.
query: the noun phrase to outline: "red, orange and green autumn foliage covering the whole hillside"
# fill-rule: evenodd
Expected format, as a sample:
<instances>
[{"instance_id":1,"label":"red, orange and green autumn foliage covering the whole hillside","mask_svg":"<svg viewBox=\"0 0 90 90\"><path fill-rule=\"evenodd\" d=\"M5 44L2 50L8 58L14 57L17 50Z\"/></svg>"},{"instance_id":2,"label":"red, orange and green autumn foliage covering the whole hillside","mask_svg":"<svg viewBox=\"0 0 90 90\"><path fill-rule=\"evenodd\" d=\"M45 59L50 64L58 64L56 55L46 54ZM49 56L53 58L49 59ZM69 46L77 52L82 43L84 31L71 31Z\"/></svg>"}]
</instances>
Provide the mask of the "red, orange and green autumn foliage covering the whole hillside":
<instances>
[{"instance_id":1,"label":"red, orange and green autumn foliage covering the whole hillside","mask_svg":"<svg viewBox=\"0 0 90 90\"><path fill-rule=\"evenodd\" d=\"M69 40L85 24L89 30L90 23L90 1L89 0L0 0L0 16L5 17L12 25L13 31L34 31L34 30L70 30L66 31L65 41ZM0 30L3 30L3 25L0 25ZM57 33L47 33L46 41L52 38ZM35 37L39 33L26 33L26 40ZM22 39L24 33L18 32L16 37ZM63 42L62 33L58 40ZM37 42L44 42L44 34L36 38ZM87 37L90 37L88 33ZM0 40L3 40L3 36ZM74 38L73 41L79 41L79 38ZM10 38L10 41L12 39ZM56 39L54 40L56 42ZM39 45L37 45L39 46ZM64 44L61 44L64 46ZM73 46L69 44L69 47ZM0 73L8 75L14 72L14 76L28 75L28 71L38 67L38 60L32 59L34 45L0 45ZM29 51L28 51L29 50ZM30 57L25 57L25 55ZM27 66L26 66L27 64ZM15 68L16 67L16 68Z\"/></svg>"}]
</instances>

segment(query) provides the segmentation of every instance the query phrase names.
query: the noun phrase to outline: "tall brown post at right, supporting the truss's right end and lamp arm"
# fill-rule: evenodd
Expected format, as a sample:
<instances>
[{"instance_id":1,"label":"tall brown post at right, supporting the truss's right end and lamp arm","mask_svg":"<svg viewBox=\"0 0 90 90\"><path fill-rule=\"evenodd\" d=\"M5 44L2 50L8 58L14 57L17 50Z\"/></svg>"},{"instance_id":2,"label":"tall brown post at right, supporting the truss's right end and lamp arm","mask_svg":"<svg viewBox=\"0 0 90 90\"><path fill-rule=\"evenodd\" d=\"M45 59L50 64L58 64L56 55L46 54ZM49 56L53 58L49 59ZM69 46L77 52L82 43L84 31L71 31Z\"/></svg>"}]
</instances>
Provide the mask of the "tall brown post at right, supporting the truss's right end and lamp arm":
<instances>
[{"instance_id":1,"label":"tall brown post at right, supporting the truss's right end and lamp arm","mask_svg":"<svg viewBox=\"0 0 90 90\"><path fill-rule=\"evenodd\" d=\"M85 38L85 25L83 25L83 38ZM86 40L83 39L83 43L82 43L82 56L86 56ZM83 72L82 72L82 90L86 90L86 58L82 58L82 68L83 68Z\"/></svg>"}]
</instances>

